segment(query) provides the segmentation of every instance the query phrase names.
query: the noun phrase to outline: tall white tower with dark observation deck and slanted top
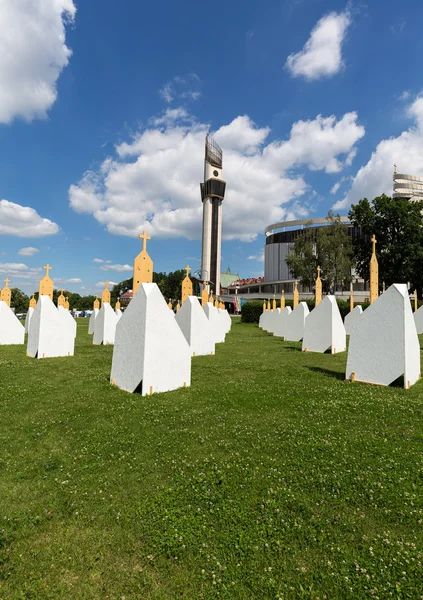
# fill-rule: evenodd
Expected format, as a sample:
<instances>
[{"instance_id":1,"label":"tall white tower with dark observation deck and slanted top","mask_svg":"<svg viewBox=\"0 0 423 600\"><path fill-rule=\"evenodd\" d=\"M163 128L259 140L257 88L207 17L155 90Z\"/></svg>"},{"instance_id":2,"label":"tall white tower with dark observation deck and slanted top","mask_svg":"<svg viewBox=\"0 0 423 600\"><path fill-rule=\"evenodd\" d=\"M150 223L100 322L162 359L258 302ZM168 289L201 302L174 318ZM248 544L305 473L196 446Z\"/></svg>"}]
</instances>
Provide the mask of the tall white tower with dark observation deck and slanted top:
<instances>
[{"instance_id":1,"label":"tall white tower with dark observation deck and slanted top","mask_svg":"<svg viewBox=\"0 0 423 600\"><path fill-rule=\"evenodd\" d=\"M204 183L201 183L203 201L203 248L201 276L209 281L215 294L220 293L220 247L222 242L222 201L226 181L222 179L222 150L206 136Z\"/></svg>"}]
</instances>

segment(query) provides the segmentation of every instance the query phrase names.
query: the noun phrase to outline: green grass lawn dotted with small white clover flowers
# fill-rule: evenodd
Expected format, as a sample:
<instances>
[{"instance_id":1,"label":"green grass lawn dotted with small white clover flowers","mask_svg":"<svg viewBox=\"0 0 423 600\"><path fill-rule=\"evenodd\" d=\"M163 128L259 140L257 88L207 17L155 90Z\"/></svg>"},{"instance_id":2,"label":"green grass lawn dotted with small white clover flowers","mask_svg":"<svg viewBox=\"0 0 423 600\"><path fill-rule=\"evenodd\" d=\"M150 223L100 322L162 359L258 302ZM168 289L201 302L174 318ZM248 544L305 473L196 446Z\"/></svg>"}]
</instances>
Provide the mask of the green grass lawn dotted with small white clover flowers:
<instances>
[{"instance_id":1,"label":"green grass lawn dotted with small white clover flowers","mask_svg":"<svg viewBox=\"0 0 423 600\"><path fill-rule=\"evenodd\" d=\"M423 597L423 385L237 322L191 388L0 347L0 598Z\"/></svg>"}]
</instances>

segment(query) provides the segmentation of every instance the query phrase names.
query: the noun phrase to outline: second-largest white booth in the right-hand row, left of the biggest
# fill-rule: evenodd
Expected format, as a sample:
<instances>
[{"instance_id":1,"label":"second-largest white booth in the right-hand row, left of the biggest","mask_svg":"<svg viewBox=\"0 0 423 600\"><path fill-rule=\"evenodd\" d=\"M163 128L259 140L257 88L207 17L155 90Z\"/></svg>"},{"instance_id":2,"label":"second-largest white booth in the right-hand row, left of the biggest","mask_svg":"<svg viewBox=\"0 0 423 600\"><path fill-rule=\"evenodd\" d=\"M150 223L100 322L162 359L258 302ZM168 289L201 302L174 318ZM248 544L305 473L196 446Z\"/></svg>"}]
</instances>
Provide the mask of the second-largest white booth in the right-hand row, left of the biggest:
<instances>
[{"instance_id":1,"label":"second-largest white booth in the right-hand row, left of the biggest","mask_svg":"<svg viewBox=\"0 0 423 600\"><path fill-rule=\"evenodd\" d=\"M345 352L347 334L335 296L325 296L305 320L303 351Z\"/></svg>"}]
</instances>

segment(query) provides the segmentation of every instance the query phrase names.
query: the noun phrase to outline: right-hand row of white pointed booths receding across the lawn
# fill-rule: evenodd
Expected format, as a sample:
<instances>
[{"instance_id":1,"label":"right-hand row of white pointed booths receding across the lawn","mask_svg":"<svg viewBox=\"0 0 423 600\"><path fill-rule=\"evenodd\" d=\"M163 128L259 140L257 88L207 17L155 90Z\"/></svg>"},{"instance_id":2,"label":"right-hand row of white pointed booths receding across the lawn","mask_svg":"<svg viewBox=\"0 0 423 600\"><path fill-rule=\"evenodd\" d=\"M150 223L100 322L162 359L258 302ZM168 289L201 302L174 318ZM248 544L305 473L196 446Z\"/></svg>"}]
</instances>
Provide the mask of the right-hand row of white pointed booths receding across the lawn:
<instances>
[{"instance_id":1,"label":"right-hand row of white pointed booths receding across the lawn","mask_svg":"<svg viewBox=\"0 0 423 600\"><path fill-rule=\"evenodd\" d=\"M345 322L335 297L326 296L311 312L305 302L294 310L264 311L259 327L285 341L302 341L304 352L344 352L349 335L350 381L390 385L403 377L408 389L420 379L423 306L413 313L406 284L391 285L364 311L356 306Z\"/></svg>"}]
</instances>

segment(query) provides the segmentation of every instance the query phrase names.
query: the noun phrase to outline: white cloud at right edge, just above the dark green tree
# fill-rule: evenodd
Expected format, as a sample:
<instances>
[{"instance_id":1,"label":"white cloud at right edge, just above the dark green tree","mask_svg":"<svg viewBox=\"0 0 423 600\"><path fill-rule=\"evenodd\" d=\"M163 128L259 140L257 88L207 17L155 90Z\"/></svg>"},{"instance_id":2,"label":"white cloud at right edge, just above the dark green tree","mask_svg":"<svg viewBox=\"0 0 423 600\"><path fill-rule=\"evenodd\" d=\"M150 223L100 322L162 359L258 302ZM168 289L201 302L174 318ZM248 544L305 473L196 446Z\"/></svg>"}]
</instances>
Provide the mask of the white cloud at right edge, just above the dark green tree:
<instances>
[{"instance_id":1,"label":"white cloud at right edge, just above the dark green tree","mask_svg":"<svg viewBox=\"0 0 423 600\"><path fill-rule=\"evenodd\" d=\"M413 126L396 138L379 142L369 162L354 177L347 195L334 205L335 210L348 208L361 198L371 200L382 193L391 196L394 164L399 173L423 177L423 96L410 104L407 115L413 119Z\"/></svg>"}]
</instances>

